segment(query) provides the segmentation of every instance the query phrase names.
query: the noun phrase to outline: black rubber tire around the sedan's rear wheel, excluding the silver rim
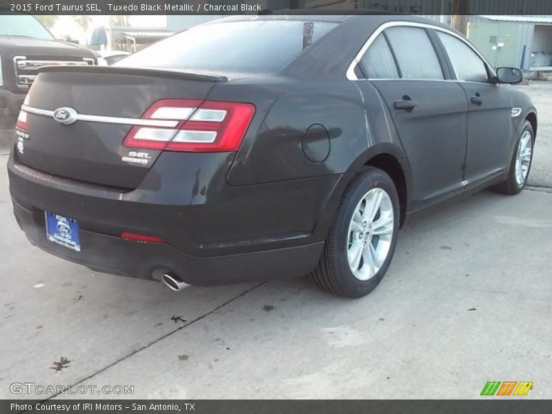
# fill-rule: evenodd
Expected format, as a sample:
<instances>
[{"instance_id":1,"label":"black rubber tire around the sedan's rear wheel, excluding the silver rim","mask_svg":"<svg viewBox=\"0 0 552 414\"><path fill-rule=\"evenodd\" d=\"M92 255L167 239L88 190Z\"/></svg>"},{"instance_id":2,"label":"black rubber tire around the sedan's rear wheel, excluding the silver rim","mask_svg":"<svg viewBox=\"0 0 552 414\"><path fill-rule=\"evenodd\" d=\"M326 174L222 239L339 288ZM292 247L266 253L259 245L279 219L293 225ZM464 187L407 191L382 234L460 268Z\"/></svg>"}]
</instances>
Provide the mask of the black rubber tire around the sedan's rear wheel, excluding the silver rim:
<instances>
[{"instance_id":1,"label":"black rubber tire around the sedan's rear wheel, excluding the silver rim","mask_svg":"<svg viewBox=\"0 0 552 414\"><path fill-rule=\"evenodd\" d=\"M371 279L357 279L348 264L348 231L357 205L368 191L381 188L391 199L393 205L393 234L391 245L380 270ZM326 244L319 264L311 273L314 282L322 289L344 297L362 297L368 295L384 277L397 244L400 225L400 204L393 179L386 172L369 167L357 176L345 190L343 199L328 233Z\"/></svg>"}]
</instances>

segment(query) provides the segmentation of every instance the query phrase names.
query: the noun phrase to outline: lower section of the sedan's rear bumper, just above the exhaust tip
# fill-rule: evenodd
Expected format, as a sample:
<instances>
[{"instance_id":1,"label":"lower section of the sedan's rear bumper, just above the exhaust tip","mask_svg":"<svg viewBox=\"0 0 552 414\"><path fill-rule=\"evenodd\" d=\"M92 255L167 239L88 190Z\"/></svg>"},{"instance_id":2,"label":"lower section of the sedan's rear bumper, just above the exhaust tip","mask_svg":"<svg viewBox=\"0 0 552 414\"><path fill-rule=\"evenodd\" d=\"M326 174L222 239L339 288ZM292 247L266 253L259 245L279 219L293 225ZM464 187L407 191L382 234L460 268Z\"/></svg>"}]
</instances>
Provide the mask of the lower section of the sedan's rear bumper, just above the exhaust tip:
<instances>
[{"instance_id":1,"label":"lower section of the sedan's rear bumper, just above the exhaust tip","mask_svg":"<svg viewBox=\"0 0 552 414\"><path fill-rule=\"evenodd\" d=\"M34 246L92 270L150 279L175 272L188 284L210 285L306 275L315 266L324 243L216 257L187 255L172 246L140 243L81 230L79 253L49 242L43 215L14 201L14 214Z\"/></svg>"}]
</instances>

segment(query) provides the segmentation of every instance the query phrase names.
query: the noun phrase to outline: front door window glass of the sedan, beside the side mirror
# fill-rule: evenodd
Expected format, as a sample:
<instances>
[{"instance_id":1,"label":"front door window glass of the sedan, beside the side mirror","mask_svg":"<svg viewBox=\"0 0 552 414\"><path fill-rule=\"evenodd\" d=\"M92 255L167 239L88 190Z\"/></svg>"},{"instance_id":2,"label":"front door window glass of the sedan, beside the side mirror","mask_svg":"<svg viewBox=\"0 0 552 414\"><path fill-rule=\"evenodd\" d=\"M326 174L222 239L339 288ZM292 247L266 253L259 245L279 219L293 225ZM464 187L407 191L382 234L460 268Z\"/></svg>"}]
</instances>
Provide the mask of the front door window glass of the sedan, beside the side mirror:
<instances>
[{"instance_id":1,"label":"front door window glass of the sedan, beside the side mirror","mask_svg":"<svg viewBox=\"0 0 552 414\"><path fill-rule=\"evenodd\" d=\"M437 32L437 35L451 59L457 79L470 82L489 82L486 64L466 43L443 32Z\"/></svg>"}]
</instances>

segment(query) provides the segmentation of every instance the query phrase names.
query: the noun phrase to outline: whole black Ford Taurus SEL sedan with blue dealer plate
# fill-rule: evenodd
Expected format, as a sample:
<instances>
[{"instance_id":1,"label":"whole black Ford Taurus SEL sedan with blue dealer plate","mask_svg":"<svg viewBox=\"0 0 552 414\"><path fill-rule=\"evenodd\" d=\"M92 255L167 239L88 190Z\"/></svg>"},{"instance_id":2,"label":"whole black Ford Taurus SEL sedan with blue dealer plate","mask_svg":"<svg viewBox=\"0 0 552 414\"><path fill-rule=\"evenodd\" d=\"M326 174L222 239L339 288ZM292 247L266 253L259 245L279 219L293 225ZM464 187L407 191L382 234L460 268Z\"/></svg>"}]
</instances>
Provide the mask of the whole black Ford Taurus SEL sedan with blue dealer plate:
<instances>
[{"instance_id":1,"label":"whole black Ford Taurus SEL sedan with blue dealer plate","mask_svg":"<svg viewBox=\"0 0 552 414\"><path fill-rule=\"evenodd\" d=\"M521 80L416 17L215 21L111 67L41 69L15 217L54 255L175 290L311 273L359 297L413 213L525 186Z\"/></svg>"}]
</instances>

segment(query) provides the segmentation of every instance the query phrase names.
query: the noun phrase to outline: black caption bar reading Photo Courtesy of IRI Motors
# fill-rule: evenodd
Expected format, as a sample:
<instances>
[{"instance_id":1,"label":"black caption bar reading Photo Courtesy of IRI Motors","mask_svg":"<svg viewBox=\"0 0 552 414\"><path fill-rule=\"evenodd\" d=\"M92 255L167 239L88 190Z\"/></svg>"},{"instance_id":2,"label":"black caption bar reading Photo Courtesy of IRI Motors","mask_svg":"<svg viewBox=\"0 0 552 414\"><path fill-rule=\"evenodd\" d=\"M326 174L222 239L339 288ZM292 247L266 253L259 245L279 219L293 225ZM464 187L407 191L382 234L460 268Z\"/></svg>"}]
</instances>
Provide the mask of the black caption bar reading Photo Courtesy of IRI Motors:
<instances>
[{"instance_id":1,"label":"black caption bar reading Photo Courtesy of IRI Motors","mask_svg":"<svg viewBox=\"0 0 552 414\"><path fill-rule=\"evenodd\" d=\"M0 413L549 414L550 400L0 400Z\"/></svg>"}]
</instances>

